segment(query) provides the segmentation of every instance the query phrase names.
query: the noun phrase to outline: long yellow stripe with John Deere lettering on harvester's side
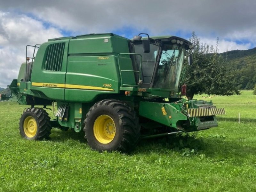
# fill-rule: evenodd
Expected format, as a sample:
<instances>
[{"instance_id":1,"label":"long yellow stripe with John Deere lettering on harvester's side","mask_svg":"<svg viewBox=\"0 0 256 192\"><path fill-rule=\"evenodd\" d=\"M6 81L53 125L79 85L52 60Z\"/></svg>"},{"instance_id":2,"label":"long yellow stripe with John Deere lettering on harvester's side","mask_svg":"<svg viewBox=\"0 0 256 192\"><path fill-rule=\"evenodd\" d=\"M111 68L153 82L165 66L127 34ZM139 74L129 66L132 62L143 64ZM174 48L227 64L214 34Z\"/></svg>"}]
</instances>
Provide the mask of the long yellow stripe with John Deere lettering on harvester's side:
<instances>
[{"instance_id":1,"label":"long yellow stripe with John Deere lettering on harvester's side","mask_svg":"<svg viewBox=\"0 0 256 192\"><path fill-rule=\"evenodd\" d=\"M32 82L32 86L51 87L51 88L67 88L67 89L89 89L89 90L100 90L100 91L115 91L114 89L105 88L105 87L74 85L74 84L59 84L59 83L35 83L35 82Z\"/></svg>"}]
</instances>

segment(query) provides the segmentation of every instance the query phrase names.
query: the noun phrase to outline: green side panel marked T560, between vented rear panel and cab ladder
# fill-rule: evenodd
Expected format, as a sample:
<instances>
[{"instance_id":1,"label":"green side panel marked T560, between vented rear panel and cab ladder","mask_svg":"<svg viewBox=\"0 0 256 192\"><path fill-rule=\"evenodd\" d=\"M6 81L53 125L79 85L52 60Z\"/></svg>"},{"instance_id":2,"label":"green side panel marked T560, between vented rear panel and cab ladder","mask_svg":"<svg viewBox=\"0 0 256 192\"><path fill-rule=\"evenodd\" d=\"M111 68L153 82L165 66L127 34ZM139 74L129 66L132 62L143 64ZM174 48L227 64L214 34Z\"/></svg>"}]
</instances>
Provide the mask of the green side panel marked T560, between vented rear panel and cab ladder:
<instances>
[{"instance_id":1,"label":"green side panel marked T560, between vented rear panel and cab ladder","mask_svg":"<svg viewBox=\"0 0 256 192\"><path fill-rule=\"evenodd\" d=\"M108 59L98 59L108 58ZM103 75L104 74L104 75ZM66 84L92 86L95 90L66 89L66 101L91 102L100 94L118 93L118 68L115 56L73 56L68 57ZM106 85L106 86L104 86ZM109 88L109 91L100 91L99 88Z\"/></svg>"}]
</instances>

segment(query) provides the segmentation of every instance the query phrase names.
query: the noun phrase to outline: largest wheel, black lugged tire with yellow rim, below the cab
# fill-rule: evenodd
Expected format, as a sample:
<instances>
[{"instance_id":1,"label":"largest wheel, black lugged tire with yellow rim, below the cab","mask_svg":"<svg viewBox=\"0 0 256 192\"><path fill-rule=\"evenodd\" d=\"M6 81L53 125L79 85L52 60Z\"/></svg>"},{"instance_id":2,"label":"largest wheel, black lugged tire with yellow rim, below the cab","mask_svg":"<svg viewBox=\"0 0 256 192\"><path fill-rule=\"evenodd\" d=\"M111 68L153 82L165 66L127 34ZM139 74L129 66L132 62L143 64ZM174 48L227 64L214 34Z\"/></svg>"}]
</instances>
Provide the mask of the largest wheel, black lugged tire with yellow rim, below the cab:
<instances>
[{"instance_id":1,"label":"largest wheel, black lugged tire with yellow rim, below the cab","mask_svg":"<svg viewBox=\"0 0 256 192\"><path fill-rule=\"evenodd\" d=\"M140 138L139 119L120 100L107 99L94 104L84 120L85 138L97 151L131 151Z\"/></svg>"}]
</instances>

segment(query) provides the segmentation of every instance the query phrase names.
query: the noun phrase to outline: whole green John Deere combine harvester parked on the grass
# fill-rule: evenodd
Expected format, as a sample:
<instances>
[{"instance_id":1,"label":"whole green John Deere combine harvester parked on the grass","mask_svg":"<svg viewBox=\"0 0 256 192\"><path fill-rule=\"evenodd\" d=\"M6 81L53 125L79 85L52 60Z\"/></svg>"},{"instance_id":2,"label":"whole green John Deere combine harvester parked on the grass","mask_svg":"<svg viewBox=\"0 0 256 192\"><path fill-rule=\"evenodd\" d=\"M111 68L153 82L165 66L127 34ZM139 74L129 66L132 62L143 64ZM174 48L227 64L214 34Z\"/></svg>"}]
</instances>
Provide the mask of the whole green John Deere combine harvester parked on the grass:
<instances>
[{"instance_id":1,"label":"whole green John Deere combine harvester parked on the grass","mask_svg":"<svg viewBox=\"0 0 256 192\"><path fill-rule=\"evenodd\" d=\"M185 57L191 64L192 44L180 37L88 34L28 47L34 54L9 85L20 104L31 106L20 118L28 140L71 128L83 130L94 150L128 152L143 138L217 127L215 115L225 114L212 102L182 98L182 64ZM54 102L50 120L45 109Z\"/></svg>"}]
</instances>

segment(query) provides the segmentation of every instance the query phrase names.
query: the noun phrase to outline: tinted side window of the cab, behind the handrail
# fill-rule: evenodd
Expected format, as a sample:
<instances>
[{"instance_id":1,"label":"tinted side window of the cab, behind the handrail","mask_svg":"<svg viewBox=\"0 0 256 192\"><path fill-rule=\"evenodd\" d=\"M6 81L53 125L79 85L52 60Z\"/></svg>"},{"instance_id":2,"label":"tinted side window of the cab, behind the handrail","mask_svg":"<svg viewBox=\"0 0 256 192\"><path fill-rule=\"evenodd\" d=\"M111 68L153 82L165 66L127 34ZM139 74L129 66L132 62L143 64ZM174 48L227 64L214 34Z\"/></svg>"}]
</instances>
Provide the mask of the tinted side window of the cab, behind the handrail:
<instances>
[{"instance_id":1,"label":"tinted side window of the cab, behind the handrail","mask_svg":"<svg viewBox=\"0 0 256 192\"><path fill-rule=\"evenodd\" d=\"M156 64L156 54L159 46L150 44L150 52L144 53L142 49L142 44L134 44L132 46L133 52L139 53L142 56L141 61L141 80L143 81L143 84L150 84L152 81L152 76L154 73L154 68ZM135 70L139 70L140 66L140 57L136 56L135 58L136 68Z\"/></svg>"}]
</instances>

